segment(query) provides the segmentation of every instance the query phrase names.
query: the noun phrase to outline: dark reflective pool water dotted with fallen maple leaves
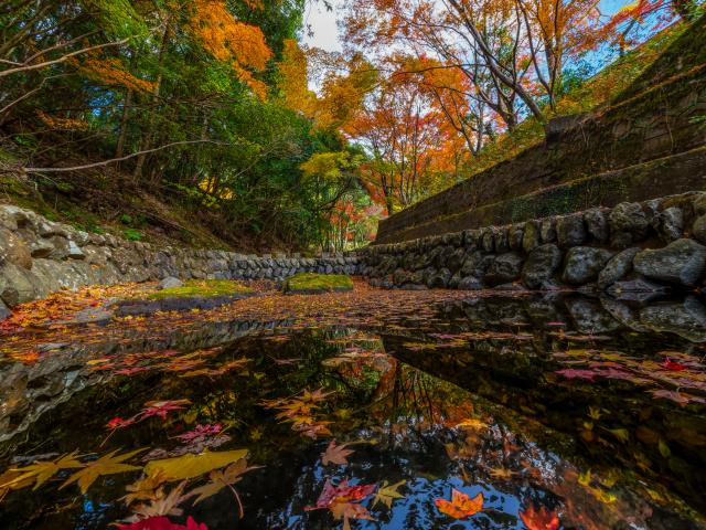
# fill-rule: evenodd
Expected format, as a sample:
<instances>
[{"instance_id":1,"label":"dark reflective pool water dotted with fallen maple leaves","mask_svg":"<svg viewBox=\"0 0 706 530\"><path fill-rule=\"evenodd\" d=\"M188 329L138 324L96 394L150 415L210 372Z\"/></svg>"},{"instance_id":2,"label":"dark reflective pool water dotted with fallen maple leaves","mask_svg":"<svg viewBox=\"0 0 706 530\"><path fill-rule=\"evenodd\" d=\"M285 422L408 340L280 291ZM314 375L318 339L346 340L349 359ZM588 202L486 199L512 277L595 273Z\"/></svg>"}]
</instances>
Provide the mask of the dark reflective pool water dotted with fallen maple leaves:
<instances>
[{"instance_id":1,"label":"dark reflective pool water dotted with fallen maple leaves","mask_svg":"<svg viewBox=\"0 0 706 530\"><path fill-rule=\"evenodd\" d=\"M129 459L141 467L247 448L263 467L234 484L243 518L228 487L184 500L181 515L152 506L211 530L341 528L325 506L308 508L343 480L398 492L349 490L374 519L351 517L359 529L702 529L699 304L469 298L375 329L223 321L159 340L126 328L106 343L53 344L36 362L0 365L0 467L142 448ZM353 453L324 465L331 439ZM149 505L121 500L140 470L97 476L85 494L60 489L75 471L35 490L6 474L2 528L107 528ZM440 512L435 500L452 488L482 494L482 510Z\"/></svg>"}]
</instances>

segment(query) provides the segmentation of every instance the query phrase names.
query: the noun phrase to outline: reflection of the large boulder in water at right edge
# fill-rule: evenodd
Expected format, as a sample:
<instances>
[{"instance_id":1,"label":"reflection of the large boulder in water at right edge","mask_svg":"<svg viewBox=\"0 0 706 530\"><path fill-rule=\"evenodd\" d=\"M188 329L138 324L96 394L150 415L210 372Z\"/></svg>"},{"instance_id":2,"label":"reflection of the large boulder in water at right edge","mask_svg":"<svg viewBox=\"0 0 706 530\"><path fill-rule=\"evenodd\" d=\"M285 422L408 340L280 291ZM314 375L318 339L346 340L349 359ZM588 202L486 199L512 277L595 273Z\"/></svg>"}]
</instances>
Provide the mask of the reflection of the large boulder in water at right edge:
<instances>
[{"instance_id":1,"label":"reflection of the large boulder in water at right edge","mask_svg":"<svg viewBox=\"0 0 706 530\"><path fill-rule=\"evenodd\" d=\"M706 340L706 306L695 296L643 307L640 321L653 331L667 331L692 341Z\"/></svg>"}]
</instances>

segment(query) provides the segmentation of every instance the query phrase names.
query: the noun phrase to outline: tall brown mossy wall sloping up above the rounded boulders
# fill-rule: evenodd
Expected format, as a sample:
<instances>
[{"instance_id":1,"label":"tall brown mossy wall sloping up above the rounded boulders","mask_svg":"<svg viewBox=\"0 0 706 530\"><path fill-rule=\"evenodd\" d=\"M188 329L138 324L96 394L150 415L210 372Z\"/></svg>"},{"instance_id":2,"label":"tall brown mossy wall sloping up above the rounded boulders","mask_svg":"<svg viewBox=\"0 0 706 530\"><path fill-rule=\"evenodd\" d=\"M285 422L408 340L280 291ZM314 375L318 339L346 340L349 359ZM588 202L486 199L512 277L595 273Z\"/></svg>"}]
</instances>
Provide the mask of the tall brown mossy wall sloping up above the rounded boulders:
<instances>
[{"instance_id":1,"label":"tall brown mossy wall sloping up above the rounded boulders","mask_svg":"<svg viewBox=\"0 0 706 530\"><path fill-rule=\"evenodd\" d=\"M376 242L706 189L705 31L703 17L609 105L549 124L546 142L382 221Z\"/></svg>"}]
</instances>

